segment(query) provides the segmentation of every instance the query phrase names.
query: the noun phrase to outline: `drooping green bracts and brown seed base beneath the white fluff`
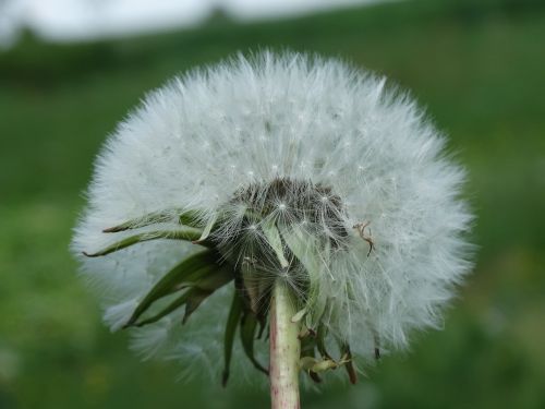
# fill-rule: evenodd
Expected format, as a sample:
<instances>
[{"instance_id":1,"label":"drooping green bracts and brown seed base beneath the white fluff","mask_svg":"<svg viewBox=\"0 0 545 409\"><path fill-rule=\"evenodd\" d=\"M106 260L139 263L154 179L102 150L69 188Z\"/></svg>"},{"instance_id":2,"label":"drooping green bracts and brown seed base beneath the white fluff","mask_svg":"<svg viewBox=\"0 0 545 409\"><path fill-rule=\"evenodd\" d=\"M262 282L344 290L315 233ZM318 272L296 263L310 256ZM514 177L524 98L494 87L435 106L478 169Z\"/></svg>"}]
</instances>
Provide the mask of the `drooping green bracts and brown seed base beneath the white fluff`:
<instances>
[{"instance_id":1,"label":"drooping green bracts and brown seed base beneath the white fluff","mask_svg":"<svg viewBox=\"0 0 545 409\"><path fill-rule=\"evenodd\" d=\"M298 312L292 322L301 327L300 369L307 372L313 381L320 382L318 373L344 365L350 381L355 383L350 347L337 339L335 334L328 334L322 323L327 300L318 297L320 263L328 263L328 260L323 260L324 254L329 254L331 248L342 251L342 241L347 233L340 222L339 226L335 224L335 214L328 217L334 220L330 228L337 230L337 240L331 239L331 234L325 236L312 230L312 225L317 221L322 212L315 202L323 201L324 193L330 195L328 189L313 190L312 187L308 189L308 185L305 185L305 196L295 197L298 203L283 204L282 201L287 199L286 191L299 189L298 183L300 182L292 180L275 180L268 187L267 195L255 199L254 206L244 209L244 215L235 227L229 225L229 213L232 212L232 206L237 206L238 201L249 200L251 189L237 192L222 212L217 213L206 224L199 218L202 212L168 209L104 229L106 234L126 230L135 230L135 234L95 253L85 253L87 256L107 256L136 243L158 239L191 241L202 249L167 272L140 301L123 327L141 327L156 323L181 308L185 309L183 324L209 296L232 281L237 290L226 323L222 383L225 385L229 378L238 327L249 360L257 370L267 374L268 370L254 356L254 341L265 334L271 280L284 277L296 304ZM250 199L251 203L252 200ZM282 218L281 214L276 212L278 201L280 209L287 206L294 209L288 218ZM335 199L334 203L334 210L342 213L340 202ZM178 222L178 228L156 230L157 226L168 224L172 219ZM140 231L142 229L145 231ZM337 339L340 356L338 361L326 351L327 336Z\"/></svg>"}]
</instances>

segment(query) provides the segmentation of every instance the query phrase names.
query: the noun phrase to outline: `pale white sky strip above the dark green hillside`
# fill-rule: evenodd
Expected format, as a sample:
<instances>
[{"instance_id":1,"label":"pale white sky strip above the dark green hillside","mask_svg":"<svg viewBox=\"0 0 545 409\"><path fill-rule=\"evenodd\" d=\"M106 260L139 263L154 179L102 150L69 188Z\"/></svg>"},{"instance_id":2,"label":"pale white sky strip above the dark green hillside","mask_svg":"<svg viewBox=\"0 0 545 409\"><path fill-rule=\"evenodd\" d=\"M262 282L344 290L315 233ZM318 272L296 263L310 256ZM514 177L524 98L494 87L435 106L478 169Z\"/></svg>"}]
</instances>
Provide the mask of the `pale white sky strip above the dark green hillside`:
<instances>
[{"instance_id":1,"label":"pale white sky strip above the dark green hillside","mask_svg":"<svg viewBox=\"0 0 545 409\"><path fill-rule=\"evenodd\" d=\"M22 27L51 41L191 27L221 8L233 19L259 20L380 0L0 0L0 46Z\"/></svg>"}]
</instances>

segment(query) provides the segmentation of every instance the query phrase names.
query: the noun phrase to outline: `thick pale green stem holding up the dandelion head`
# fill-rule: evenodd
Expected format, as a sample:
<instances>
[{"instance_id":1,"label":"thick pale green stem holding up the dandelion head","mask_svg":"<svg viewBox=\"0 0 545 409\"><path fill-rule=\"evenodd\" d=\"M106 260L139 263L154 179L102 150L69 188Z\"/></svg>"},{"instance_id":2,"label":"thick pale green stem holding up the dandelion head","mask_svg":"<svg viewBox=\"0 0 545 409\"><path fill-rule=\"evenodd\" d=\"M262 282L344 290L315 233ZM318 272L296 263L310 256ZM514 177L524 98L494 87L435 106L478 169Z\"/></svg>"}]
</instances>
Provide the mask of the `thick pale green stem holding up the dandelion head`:
<instances>
[{"instance_id":1,"label":"thick pale green stem holding up the dandelion head","mask_svg":"<svg viewBox=\"0 0 545 409\"><path fill-rule=\"evenodd\" d=\"M299 324L286 284L278 280L270 301L270 400L272 409L299 409Z\"/></svg>"}]
</instances>

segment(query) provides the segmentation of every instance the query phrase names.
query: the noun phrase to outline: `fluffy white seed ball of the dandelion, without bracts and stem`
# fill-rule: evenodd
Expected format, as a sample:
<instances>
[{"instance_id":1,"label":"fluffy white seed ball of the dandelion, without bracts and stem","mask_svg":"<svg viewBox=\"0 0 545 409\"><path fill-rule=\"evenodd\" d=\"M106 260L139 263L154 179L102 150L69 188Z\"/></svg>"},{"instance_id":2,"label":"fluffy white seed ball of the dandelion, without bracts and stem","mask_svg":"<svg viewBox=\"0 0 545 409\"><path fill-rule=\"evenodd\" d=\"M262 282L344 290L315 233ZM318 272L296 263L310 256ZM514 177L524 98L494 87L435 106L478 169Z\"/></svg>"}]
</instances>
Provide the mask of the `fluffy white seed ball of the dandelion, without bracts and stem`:
<instances>
[{"instance_id":1,"label":"fluffy white seed ball of the dandelion, without bracts and stem","mask_svg":"<svg viewBox=\"0 0 545 409\"><path fill-rule=\"evenodd\" d=\"M147 95L97 158L72 246L81 254L109 245L102 229L153 212L198 209L203 227L221 214L211 239L226 260L258 263L266 285L283 277L307 303L310 325L323 323L367 358L377 340L383 350L403 349L414 330L441 325L471 268L464 175L446 156L444 135L384 77L338 60L265 51ZM172 213L160 227L177 222ZM283 234L284 269L263 233L269 222ZM305 243L296 257L289 240ZM194 252L189 242L150 241L109 258L82 256L82 270L117 329ZM133 347L187 368L195 346L220 365L210 357L221 357L226 318L218 311L226 306L217 305L229 291L205 300L187 330L179 330L174 312L159 329L137 329ZM319 316L316 305L326 305Z\"/></svg>"}]
</instances>

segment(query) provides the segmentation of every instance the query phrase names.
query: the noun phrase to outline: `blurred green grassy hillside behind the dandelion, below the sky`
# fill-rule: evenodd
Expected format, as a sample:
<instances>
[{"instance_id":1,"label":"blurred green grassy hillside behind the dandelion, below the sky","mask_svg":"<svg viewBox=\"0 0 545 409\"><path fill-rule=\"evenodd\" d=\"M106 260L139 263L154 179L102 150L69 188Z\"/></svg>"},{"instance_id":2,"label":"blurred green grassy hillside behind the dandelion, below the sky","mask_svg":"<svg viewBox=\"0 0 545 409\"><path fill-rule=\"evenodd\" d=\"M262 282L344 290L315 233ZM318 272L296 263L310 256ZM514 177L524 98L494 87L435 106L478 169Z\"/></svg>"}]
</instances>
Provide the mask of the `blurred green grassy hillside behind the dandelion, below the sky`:
<instances>
[{"instance_id":1,"label":"blurred green grassy hillside behind the dandelion, below the sky","mask_svg":"<svg viewBox=\"0 0 545 409\"><path fill-rule=\"evenodd\" d=\"M414 0L0 53L0 408L259 408L177 382L110 334L68 251L94 157L146 91L258 47L317 51L412 89L469 168L474 274L443 332L304 408L545 408L545 2Z\"/></svg>"}]
</instances>

